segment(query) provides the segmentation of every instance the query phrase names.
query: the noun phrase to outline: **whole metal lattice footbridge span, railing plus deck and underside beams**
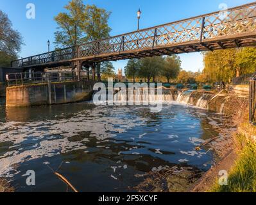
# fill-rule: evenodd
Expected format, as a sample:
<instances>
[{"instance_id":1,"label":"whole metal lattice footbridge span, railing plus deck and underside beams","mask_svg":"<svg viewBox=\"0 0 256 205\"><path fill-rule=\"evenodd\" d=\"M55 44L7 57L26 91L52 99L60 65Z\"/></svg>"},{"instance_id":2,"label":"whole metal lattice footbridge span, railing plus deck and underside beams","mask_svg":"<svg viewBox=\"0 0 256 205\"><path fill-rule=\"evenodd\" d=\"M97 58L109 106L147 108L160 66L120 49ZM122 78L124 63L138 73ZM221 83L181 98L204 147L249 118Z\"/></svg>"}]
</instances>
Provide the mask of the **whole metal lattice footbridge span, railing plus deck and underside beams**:
<instances>
[{"instance_id":1,"label":"whole metal lattice footbridge span, railing plus deck and underside beams","mask_svg":"<svg viewBox=\"0 0 256 205\"><path fill-rule=\"evenodd\" d=\"M256 45L256 2L13 61L31 67L111 61Z\"/></svg>"}]
</instances>

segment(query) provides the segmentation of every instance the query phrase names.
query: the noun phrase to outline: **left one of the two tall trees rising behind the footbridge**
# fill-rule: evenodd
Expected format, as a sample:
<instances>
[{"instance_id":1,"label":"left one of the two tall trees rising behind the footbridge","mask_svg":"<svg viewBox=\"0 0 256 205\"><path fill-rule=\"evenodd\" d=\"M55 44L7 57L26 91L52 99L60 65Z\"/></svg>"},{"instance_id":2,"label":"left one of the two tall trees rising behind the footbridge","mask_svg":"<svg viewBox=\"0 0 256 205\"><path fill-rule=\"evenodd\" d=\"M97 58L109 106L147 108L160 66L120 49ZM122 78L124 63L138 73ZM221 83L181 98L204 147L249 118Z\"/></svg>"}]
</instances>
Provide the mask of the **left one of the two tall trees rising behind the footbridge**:
<instances>
[{"instance_id":1,"label":"left one of the two tall trees rising behind the footbridge","mask_svg":"<svg viewBox=\"0 0 256 205\"><path fill-rule=\"evenodd\" d=\"M85 21L85 5L81 0L72 0L64 8L67 12L61 12L55 17L58 24L55 44L59 47L71 47L80 44L84 36L81 26Z\"/></svg>"}]
</instances>

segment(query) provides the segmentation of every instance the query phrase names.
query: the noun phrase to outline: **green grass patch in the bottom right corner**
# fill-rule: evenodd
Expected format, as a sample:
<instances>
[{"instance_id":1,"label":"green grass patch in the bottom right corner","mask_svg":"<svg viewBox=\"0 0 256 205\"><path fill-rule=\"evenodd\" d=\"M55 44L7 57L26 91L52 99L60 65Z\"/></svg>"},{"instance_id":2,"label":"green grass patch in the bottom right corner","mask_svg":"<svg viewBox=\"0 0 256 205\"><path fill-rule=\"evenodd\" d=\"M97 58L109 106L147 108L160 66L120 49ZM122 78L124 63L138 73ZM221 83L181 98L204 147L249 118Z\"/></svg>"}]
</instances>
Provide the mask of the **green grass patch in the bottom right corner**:
<instances>
[{"instance_id":1,"label":"green grass patch in the bottom right corner","mask_svg":"<svg viewBox=\"0 0 256 205\"><path fill-rule=\"evenodd\" d=\"M237 142L243 144L239 158L228 175L228 186L214 185L211 192L256 192L256 144L237 134Z\"/></svg>"}]
</instances>

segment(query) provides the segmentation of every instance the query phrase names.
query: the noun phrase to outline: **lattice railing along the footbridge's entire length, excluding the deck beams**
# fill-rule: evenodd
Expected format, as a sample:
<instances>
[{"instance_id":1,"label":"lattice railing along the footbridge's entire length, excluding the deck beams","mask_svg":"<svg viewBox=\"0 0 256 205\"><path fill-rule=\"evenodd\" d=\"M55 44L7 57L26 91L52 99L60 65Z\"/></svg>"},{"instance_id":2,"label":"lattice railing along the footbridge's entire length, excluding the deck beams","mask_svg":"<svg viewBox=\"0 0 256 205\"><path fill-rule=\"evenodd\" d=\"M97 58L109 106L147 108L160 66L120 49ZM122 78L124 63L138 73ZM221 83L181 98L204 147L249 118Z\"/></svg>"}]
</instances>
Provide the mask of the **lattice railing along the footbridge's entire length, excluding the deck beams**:
<instances>
[{"instance_id":1,"label":"lattice railing along the footbridge's entire length, excluding the deck beams","mask_svg":"<svg viewBox=\"0 0 256 205\"><path fill-rule=\"evenodd\" d=\"M69 47L13 61L13 67L38 65L54 61L96 58L153 49L171 49L188 43L235 39L256 32L256 2L213 12L152 28ZM239 43L237 42L237 45ZM181 46L181 47L180 47ZM238 45L239 46L239 45ZM209 47L209 49L211 49ZM195 49L197 51L197 49ZM199 51L199 50L198 50ZM185 51L186 52L186 51ZM174 52L175 53L175 52Z\"/></svg>"}]
</instances>

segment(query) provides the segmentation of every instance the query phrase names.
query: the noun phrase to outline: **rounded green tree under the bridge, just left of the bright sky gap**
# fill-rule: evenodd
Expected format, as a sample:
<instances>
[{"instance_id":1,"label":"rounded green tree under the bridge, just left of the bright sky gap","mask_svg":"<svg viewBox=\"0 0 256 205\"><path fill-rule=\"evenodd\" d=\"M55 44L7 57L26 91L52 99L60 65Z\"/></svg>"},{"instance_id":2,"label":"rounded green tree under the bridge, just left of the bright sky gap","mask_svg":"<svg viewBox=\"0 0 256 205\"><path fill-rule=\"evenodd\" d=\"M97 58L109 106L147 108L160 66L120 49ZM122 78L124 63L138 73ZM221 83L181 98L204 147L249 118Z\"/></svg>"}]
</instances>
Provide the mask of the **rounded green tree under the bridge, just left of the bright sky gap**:
<instances>
[{"instance_id":1,"label":"rounded green tree under the bridge, just left of the bright sky gap","mask_svg":"<svg viewBox=\"0 0 256 205\"><path fill-rule=\"evenodd\" d=\"M161 74L166 77L168 83L170 83L170 79L177 78L180 70L181 70L180 57L173 55L165 58L164 66L162 67Z\"/></svg>"}]
</instances>

